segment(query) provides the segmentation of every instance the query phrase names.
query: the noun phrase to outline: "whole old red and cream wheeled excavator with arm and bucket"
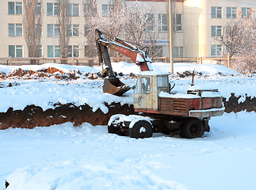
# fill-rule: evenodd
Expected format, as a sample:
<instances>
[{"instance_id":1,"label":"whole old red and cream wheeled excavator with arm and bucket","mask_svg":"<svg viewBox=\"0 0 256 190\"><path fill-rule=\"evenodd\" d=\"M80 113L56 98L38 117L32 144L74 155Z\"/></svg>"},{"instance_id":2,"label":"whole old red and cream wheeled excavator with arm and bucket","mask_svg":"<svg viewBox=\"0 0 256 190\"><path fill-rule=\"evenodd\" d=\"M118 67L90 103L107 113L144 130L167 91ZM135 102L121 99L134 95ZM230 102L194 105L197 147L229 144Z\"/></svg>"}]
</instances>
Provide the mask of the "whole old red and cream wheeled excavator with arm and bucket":
<instances>
[{"instance_id":1,"label":"whole old red and cream wheeled excavator with arm and bucket","mask_svg":"<svg viewBox=\"0 0 256 190\"><path fill-rule=\"evenodd\" d=\"M132 58L141 70L132 93L136 115L111 116L109 133L138 139L149 138L153 132L162 132L193 139L201 137L204 131L210 131L208 120L212 116L224 114L218 89L202 89L193 86L192 82L186 93L171 93L174 86L170 87L169 74L152 70L147 47L139 48L119 38L111 40L98 28L96 36L98 57L107 66L104 71L108 73L103 86L105 93L120 96L130 89L113 74L108 48Z\"/></svg>"}]
</instances>

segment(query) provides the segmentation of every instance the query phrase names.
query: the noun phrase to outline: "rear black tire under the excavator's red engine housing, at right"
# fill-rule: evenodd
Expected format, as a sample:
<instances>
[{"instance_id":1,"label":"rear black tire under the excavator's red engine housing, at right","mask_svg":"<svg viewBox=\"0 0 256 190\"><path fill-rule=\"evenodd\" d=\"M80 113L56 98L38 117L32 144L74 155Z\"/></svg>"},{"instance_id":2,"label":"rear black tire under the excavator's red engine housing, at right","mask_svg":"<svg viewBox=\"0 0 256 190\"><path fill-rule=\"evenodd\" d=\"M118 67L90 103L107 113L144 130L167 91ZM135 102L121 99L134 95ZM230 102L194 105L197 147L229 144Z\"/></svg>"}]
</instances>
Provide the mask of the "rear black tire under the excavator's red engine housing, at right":
<instances>
[{"instance_id":1,"label":"rear black tire under the excavator's red engine housing, at right","mask_svg":"<svg viewBox=\"0 0 256 190\"><path fill-rule=\"evenodd\" d=\"M181 125L181 137L193 139L204 134L204 124L202 120L191 118Z\"/></svg>"}]
</instances>

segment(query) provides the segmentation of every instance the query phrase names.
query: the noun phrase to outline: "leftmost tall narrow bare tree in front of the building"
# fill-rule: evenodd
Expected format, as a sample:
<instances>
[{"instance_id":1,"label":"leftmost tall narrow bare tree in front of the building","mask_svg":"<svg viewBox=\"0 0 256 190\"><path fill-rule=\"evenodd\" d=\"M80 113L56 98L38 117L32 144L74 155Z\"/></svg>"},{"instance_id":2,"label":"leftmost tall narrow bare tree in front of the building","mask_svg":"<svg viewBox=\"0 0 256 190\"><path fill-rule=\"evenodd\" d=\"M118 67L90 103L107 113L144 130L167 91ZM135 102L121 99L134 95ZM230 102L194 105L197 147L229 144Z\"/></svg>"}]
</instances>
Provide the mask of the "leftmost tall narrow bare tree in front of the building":
<instances>
[{"instance_id":1,"label":"leftmost tall narrow bare tree in front of the building","mask_svg":"<svg viewBox=\"0 0 256 190\"><path fill-rule=\"evenodd\" d=\"M29 51L29 57L40 57L40 40L42 27L41 2L38 0L23 0L24 14L23 25L25 41ZM31 60L35 63L36 60Z\"/></svg>"}]
</instances>

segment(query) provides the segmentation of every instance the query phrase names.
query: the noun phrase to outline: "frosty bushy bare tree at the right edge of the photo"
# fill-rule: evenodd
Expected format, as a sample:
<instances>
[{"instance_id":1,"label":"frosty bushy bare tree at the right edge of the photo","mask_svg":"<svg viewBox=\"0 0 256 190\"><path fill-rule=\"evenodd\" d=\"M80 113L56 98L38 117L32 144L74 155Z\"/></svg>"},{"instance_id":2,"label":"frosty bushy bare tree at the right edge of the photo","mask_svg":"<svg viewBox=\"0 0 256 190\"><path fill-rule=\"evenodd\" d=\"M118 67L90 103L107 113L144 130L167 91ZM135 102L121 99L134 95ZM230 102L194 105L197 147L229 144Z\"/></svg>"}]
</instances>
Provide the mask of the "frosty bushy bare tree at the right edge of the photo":
<instances>
[{"instance_id":1,"label":"frosty bushy bare tree at the right edge of the photo","mask_svg":"<svg viewBox=\"0 0 256 190\"><path fill-rule=\"evenodd\" d=\"M238 13L235 21L230 21L224 26L223 35L216 40L220 40L224 49L229 55L241 57L242 59L233 60L231 68L243 72L256 70L256 21L250 11L250 18L242 17Z\"/></svg>"}]
</instances>

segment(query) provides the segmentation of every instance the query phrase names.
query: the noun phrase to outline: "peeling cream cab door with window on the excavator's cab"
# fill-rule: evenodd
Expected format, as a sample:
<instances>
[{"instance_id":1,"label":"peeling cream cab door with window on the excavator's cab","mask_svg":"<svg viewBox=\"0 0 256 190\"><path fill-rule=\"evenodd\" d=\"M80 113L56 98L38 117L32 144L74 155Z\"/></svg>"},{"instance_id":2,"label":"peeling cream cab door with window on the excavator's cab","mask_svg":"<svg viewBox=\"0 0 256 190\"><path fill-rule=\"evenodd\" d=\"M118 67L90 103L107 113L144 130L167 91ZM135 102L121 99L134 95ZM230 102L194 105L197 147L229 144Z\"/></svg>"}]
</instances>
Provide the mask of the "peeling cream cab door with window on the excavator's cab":
<instances>
[{"instance_id":1,"label":"peeling cream cab door with window on the excavator's cab","mask_svg":"<svg viewBox=\"0 0 256 190\"><path fill-rule=\"evenodd\" d=\"M152 78L139 77L132 94L134 108L152 109Z\"/></svg>"}]
</instances>

